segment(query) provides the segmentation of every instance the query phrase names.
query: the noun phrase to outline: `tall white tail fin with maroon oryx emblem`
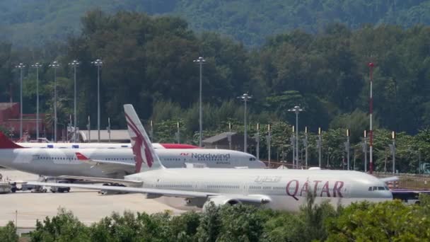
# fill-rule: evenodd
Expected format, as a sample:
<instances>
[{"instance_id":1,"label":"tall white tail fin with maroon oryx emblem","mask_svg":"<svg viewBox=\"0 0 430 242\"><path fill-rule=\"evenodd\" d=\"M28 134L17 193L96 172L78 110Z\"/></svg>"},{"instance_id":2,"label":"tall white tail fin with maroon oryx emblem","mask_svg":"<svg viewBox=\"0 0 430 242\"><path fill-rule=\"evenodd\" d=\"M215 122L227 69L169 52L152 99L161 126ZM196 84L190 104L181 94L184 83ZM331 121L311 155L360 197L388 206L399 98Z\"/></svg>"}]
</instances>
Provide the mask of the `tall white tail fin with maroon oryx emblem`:
<instances>
[{"instance_id":1,"label":"tall white tail fin with maroon oryx emblem","mask_svg":"<svg viewBox=\"0 0 430 242\"><path fill-rule=\"evenodd\" d=\"M132 141L133 154L136 156L136 173L164 168L153 149L148 134L146 134L133 105L125 104L124 113Z\"/></svg>"}]
</instances>

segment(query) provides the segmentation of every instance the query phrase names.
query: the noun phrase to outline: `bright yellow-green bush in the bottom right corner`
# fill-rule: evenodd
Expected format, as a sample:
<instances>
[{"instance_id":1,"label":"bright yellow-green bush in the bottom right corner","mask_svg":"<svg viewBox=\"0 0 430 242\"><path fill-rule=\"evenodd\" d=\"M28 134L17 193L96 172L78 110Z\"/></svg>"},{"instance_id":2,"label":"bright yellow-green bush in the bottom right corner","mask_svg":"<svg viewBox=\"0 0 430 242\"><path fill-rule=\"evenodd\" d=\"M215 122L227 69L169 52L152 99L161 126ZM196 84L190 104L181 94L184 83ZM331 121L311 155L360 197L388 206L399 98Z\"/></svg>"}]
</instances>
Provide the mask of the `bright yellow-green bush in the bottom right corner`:
<instances>
[{"instance_id":1,"label":"bright yellow-green bush in the bottom right corner","mask_svg":"<svg viewBox=\"0 0 430 242\"><path fill-rule=\"evenodd\" d=\"M400 200L353 203L328 223L327 241L426 241L430 221Z\"/></svg>"}]
</instances>

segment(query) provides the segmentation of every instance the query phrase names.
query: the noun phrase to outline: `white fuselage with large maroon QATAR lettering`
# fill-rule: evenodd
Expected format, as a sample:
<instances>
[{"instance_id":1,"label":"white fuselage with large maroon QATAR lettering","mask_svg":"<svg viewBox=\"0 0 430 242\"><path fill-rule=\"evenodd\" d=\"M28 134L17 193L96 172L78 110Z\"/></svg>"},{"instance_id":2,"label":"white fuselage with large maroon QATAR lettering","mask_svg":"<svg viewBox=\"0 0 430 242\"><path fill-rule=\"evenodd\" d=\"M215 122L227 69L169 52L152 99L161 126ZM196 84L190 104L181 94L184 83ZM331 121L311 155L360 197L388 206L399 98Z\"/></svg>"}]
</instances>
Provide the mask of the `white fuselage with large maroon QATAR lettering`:
<instances>
[{"instance_id":1,"label":"white fuselage with large maroon QATAR lettering","mask_svg":"<svg viewBox=\"0 0 430 242\"><path fill-rule=\"evenodd\" d=\"M236 195L267 195L267 206L296 211L308 192L315 202L337 204L368 200L392 200L383 181L357 171L271 169L160 169L127 175L126 180L143 182L143 188L221 193L221 200ZM376 187L377 189L369 189ZM379 188L379 189L378 189Z\"/></svg>"}]
</instances>

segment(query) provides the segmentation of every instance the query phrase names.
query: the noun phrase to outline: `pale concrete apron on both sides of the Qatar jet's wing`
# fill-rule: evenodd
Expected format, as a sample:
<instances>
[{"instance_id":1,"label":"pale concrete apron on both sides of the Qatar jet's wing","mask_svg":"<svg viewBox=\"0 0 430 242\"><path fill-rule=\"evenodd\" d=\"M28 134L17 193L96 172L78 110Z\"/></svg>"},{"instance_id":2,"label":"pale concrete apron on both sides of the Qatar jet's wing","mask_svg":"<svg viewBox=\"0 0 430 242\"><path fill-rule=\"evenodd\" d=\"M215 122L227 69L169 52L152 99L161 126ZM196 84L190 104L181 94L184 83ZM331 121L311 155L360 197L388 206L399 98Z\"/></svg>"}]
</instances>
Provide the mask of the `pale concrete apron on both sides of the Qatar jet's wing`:
<instances>
[{"instance_id":1,"label":"pale concrete apron on both sides of the Qatar jet's wing","mask_svg":"<svg viewBox=\"0 0 430 242\"><path fill-rule=\"evenodd\" d=\"M9 180L37 180L38 176L0 169L3 178ZM141 194L100 195L95 190L71 188L67 193L16 192L0 194L0 226L18 220L18 227L34 227L36 220L52 217L59 207L70 210L83 223L91 224L112 212L147 212L153 214L169 210L180 214L184 210L174 209L157 200L148 200Z\"/></svg>"}]
</instances>

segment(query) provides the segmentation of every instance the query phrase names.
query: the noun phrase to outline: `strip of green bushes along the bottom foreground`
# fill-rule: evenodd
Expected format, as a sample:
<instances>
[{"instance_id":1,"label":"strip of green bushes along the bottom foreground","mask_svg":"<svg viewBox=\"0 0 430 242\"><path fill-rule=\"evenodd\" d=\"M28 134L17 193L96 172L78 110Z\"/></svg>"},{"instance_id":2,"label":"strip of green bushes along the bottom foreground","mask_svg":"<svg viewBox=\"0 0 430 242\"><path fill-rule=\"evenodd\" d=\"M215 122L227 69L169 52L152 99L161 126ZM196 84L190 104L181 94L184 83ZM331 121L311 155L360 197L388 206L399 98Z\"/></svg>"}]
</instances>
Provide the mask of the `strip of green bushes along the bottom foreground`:
<instances>
[{"instance_id":1,"label":"strip of green bushes along the bottom foreground","mask_svg":"<svg viewBox=\"0 0 430 242\"><path fill-rule=\"evenodd\" d=\"M71 212L37 221L31 241L429 241L429 196L421 205L399 200L359 202L334 209L312 199L292 214L248 205L205 212L112 214L86 226ZM0 241L16 241L12 223L0 229Z\"/></svg>"}]
</instances>

